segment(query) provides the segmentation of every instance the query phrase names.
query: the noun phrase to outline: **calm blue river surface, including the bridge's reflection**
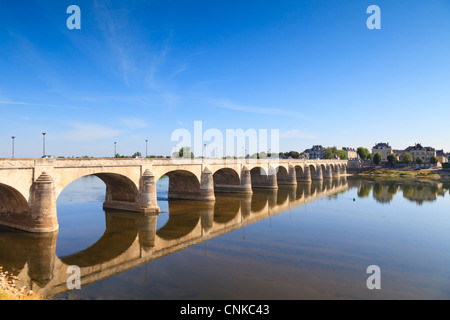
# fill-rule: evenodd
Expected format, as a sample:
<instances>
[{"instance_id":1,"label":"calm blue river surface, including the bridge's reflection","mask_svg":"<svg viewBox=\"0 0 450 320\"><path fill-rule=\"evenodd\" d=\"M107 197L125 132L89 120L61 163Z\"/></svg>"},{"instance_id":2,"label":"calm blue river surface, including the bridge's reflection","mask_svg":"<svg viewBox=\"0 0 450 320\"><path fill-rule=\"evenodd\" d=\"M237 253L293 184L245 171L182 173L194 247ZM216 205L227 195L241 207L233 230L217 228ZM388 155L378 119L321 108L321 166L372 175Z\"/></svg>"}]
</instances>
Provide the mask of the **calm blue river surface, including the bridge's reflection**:
<instances>
[{"instance_id":1,"label":"calm blue river surface, including the bridge's reflection","mask_svg":"<svg viewBox=\"0 0 450 320\"><path fill-rule=\"evenodd\" d=\"M448 185L349 178L213 204L158 188L163 212L148 218L105 212L103 182L79 179L58 198L54 238L0 229L0 265L53 299L450 298ZM60 280L72 264L89 270L81 290Z\"/></svg>"}]
</instances>

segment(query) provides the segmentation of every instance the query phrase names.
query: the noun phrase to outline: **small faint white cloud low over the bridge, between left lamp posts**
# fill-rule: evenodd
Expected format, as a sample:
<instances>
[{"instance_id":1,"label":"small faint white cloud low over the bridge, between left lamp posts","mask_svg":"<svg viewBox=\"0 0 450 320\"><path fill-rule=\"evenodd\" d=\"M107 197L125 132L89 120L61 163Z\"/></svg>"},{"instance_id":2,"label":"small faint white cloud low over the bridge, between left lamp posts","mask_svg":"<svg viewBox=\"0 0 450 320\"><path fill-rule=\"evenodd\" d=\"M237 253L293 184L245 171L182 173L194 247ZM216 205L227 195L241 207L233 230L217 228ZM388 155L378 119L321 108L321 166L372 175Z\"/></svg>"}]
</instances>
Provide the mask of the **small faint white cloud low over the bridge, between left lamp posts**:
<instances>
[{"instance_id":1,"label":"small faint white cloud low over the bridge, between left lamp posts","mask_svg":"<svg viewBox=\"0 0 450 320\"><path fill-rule=\"evenodd\" d=\"M96 123L72 123L71 130L64 134L65 138L72 141L93 141L112 139L120 135L121 131L111 129Z\"/></svg>"}]
</instances>

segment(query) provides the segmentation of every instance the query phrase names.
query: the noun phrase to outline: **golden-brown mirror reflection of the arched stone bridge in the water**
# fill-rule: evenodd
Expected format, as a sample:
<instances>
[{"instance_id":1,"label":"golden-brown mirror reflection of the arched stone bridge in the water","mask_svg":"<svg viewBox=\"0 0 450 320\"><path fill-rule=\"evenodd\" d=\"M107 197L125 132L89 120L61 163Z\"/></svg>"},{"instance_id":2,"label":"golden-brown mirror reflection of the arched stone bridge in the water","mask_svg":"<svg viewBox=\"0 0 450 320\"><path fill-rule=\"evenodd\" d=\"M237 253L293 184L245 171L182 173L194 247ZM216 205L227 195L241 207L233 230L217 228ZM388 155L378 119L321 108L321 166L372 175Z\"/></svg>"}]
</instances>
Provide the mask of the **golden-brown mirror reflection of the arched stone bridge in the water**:
<instances>
[{"instance_id":1,"label":"golden-brown mirror reflection of the arched stone bridge in the water","mask_svg":"<svg viewBox=\"0 0 450 320\"><path fill-rule=\"evenodd\" d=\"M347 178L324 179L251 195L216 195L215 202L169 201L169 219L157 229L157 215L106 211L106 230L91 247L57 257L57 232L33 234L2 227L0 265L19 285L54 297L69 291L67 268L77 265L86 285L148 261L269 218L348 187Z\"/></svg>"}]
</instances>

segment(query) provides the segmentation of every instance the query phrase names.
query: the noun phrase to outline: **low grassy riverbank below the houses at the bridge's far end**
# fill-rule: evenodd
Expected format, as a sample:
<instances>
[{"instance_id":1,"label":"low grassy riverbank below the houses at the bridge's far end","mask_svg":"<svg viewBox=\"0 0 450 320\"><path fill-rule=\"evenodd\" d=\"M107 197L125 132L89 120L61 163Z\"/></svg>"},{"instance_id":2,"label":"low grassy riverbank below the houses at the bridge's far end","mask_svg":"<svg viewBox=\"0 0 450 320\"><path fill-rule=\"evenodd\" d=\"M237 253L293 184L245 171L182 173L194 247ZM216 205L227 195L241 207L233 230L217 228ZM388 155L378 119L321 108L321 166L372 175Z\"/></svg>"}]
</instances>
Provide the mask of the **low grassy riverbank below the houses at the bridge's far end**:
<instances>
[{"instance_id":1,"label":"low grassy riverbank below the houses at the bridge's far end","mask_svg":"<svg viewBox=\"0 0 450 320\"><path fill-rule=\"evenodd\" d=\"M433 180L450 182L450 170L440 168L373 168L353 173L357 177L380 177L408 180Z\"/></svg>"}]
</instances>

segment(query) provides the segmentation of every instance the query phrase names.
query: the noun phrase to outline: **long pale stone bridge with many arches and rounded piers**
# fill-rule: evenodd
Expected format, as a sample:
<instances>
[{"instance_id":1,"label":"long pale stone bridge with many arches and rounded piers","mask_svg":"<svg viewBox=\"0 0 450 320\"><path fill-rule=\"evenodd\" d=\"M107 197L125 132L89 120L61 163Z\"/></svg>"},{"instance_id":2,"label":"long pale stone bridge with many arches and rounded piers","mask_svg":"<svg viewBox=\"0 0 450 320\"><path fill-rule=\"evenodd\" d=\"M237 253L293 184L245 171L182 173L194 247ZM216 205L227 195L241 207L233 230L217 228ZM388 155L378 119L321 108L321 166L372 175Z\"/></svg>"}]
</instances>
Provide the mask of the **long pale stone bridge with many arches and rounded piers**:
<instances>
[{"instance_id":1,"label":"long pale stone bridge with many arches and rounded piers","mask_svg":"<svg viewBox=\"0 0 450 320\"><path fill-rule=\"evenodd\" d=\"M346 160L295 159L0 159L0 225L35 233L58 230L56 200L71 182L95 175L105 209L158 213L156 182L169 199L214 201L215 193L251 194L347 174Z\"/></svg>"}]
</instances>

